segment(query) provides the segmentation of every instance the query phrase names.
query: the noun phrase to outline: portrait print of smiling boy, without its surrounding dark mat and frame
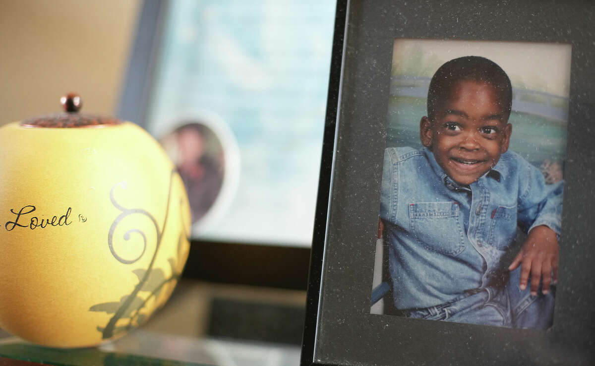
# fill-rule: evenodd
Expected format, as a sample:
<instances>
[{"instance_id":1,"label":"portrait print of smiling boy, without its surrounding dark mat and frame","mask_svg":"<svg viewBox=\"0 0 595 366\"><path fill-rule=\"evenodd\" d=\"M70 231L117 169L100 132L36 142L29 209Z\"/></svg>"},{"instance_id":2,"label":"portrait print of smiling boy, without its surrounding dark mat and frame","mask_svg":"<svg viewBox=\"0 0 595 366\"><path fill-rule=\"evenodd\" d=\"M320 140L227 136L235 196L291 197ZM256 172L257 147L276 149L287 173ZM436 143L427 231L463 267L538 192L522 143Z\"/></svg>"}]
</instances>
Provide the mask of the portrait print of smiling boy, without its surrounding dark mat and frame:
<instances>
[{"instance_id":1,"label":"portrait print of smiling boy, without its surrounding dark mat and frame","mask_svg":"<svg viewBox=\"0 0 595 366\"><path fill-rule=\"evenodd\" d=\"M552 326L570 63L558 43L395 40L373 314Z\"/></svg>"}]
</instances>

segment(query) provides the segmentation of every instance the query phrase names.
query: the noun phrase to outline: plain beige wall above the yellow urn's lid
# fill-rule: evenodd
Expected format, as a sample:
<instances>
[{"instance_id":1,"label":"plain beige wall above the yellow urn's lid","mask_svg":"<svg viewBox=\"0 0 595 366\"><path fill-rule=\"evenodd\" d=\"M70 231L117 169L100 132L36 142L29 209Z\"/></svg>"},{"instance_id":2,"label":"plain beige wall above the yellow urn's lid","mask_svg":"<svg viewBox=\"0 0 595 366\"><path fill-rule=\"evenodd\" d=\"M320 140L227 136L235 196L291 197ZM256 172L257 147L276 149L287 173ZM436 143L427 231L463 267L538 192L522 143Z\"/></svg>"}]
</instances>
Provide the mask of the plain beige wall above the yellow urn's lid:
<instances>
[{"instance_id":1,"label":"plain beige wall above the yellow urn's lid","mask_svg":"<svg viewBox=\"0 0 595 366\"><path fill-rule=\"evenodd\" d=\"M140 0L0 2L0 125L61 110L115 115Z\"/></svg>"}]
</instances>

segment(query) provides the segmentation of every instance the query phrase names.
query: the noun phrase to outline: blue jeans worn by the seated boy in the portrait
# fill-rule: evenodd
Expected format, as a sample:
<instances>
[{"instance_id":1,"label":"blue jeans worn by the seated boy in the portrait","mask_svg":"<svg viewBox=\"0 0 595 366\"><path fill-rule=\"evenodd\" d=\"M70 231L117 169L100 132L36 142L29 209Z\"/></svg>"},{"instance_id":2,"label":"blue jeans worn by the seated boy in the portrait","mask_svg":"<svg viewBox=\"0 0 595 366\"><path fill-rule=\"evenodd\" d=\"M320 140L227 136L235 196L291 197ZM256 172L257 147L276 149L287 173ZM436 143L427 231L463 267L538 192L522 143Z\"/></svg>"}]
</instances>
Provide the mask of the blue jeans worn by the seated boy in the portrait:
<instances>
[{"instance_id":1,"label":"blue jeans worn by the seated boy in the portrait","mask_svg":"<svg viewBox=\"0 0 595 366\"><path fill-rule=\"evenodd\" d=\"M453 301L429 308L405 309L406 317L455 321L523 329L547 329L552 326L555 286L543 295L531 296L530 283L519 289L521 268L512 271L504 288L484 287L470 290Z\"/></svg>"}]
</instances>

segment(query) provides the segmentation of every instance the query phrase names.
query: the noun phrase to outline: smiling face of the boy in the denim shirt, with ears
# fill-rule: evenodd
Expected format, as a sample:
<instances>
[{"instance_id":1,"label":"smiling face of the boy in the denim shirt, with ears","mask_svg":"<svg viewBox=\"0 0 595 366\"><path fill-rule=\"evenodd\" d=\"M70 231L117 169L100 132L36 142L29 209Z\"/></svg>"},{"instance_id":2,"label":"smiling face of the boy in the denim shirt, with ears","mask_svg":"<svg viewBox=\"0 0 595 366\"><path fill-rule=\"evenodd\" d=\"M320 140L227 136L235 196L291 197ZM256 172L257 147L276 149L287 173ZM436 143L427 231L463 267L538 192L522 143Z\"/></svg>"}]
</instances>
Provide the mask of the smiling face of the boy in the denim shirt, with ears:
<instances>
[{"instance_id":1,"label":"smiling face of the boy in the denim shirt, with ears","mask_svg":"<svg viewBox=\"0 0 595 366\"><path fill-rule=\"evenodd\" d=\"M472 80L455 83L436 107L433 120L421 118L421 142L450 178L469 185L508 150L508 114L492 86Z\"/></svg>"}]
</instances>

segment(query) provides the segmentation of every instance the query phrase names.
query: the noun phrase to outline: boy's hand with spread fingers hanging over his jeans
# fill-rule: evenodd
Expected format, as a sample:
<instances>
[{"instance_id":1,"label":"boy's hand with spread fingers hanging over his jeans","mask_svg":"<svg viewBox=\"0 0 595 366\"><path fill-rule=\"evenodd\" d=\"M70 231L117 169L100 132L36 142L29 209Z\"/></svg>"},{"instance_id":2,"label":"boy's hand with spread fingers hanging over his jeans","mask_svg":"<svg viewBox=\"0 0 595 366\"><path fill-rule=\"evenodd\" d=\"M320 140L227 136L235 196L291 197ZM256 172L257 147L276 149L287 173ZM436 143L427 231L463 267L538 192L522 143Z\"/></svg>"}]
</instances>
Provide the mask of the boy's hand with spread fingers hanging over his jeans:
<instances>
[{"instance_id":1,"label":"boy's hand with spread fingers hanging over his jeans","mask_svg":"<svg viewBox=\"0 0 595 366\"><path fill-rule=\"evenodd\" d=\"M531 295L537 295L539 282L543 276L541 292L550 292L550 284L558 281L558 239L556 233L547 226L536 226L529 232L521 251L512 261L509 271L515 270L522 262L521 290L527 288L527 280L531 273ZM553 278L552 278L553 271Z\"/></svg>"}]
</instances>

